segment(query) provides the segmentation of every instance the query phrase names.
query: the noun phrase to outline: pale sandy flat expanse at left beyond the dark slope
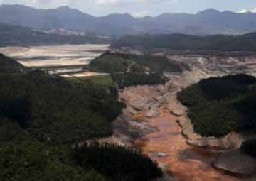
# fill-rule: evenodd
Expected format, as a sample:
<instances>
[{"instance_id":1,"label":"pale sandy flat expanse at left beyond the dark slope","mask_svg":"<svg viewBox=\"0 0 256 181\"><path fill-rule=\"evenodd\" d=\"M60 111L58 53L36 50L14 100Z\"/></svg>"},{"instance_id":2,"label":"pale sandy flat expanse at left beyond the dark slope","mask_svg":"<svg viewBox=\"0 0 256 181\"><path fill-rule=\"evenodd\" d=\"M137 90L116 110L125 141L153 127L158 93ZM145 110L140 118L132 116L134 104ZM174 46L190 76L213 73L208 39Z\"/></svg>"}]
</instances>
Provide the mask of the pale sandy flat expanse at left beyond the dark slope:
<instances>
[{"instance_id":1,"label":"pale sandy flat expanse at left beyond the dark slope","mask_svg":"<svg viewBox=\"0 0 256 181\"><path fill-rule=\"evenodd\" d=\"M109 45L56 45L38 47L6 47L0 53L27 67L87 65L108 49Z\"/></svg>"}]
</instances>

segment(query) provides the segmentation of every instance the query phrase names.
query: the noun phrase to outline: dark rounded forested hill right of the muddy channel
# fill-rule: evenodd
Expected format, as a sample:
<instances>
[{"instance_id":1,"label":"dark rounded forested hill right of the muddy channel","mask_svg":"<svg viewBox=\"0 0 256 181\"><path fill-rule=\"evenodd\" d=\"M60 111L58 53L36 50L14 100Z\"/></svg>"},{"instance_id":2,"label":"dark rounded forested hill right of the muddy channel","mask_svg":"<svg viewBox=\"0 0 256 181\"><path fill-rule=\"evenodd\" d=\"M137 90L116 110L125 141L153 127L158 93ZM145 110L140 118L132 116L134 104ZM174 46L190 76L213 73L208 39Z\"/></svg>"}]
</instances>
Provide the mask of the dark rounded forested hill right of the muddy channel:
<instances>
[{"instance_id":1,"label":"dark rounded forested hill right of the muddy channel","mask_svg":"<svg viewBox=\"0 0 256 181\"><path fill-rule=\"evenodd\" d=\"M230 132L256 131L256 79L228 75L203 79L181 92L188 116L201 136L223 137Z\"/></svg>"}]
</instances>

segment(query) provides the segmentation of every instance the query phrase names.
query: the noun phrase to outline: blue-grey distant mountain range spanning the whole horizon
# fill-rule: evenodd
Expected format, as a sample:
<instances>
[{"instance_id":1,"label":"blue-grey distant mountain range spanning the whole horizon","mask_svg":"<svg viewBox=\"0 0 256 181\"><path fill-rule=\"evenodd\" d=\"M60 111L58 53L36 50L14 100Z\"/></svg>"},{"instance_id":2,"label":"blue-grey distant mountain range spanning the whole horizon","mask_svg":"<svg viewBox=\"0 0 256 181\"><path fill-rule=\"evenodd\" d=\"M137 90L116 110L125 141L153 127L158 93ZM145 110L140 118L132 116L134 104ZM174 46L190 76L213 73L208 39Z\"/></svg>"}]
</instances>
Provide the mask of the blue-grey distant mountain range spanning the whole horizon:
<instances>
[{"instance_id":1,"label":"blue-grey distant mountain range spanning the whole horizon","mask_svg":"<svg viewBox=\"0 0 256 181\"><path fill-rule=\"evenodd\" d=\"M34 9L22 5L2 5L0 22L44 31L68 29L105 35L143 33L238 35L256 31L255 13L220 12L215 9L207 9L197 14L164 13L156 17L134 18L127 13L95 17L68 6L61 6L58 9Z\"/></svg>"}]
</instances>

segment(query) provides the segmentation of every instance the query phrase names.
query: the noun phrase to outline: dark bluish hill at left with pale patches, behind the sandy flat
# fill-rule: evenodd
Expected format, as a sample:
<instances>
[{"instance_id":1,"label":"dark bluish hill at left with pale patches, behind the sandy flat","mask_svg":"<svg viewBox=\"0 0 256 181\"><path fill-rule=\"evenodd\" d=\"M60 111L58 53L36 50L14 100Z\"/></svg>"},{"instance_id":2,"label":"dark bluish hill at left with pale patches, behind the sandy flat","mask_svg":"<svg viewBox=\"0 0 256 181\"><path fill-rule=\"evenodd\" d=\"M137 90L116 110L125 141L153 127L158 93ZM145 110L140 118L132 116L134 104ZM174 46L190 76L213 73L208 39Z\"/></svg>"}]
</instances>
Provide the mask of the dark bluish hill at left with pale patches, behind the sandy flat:
<instances>
[{"instance_id":1,"label":"dark bluish hill at left with pale patches, behind the sandy flat","mask_svg":"<svg viewBox=\"0 0 256 181\"><path fill-rule=\"evenodd\" d=\"M60 44L108 44L110 40L97 35L53 35L31 28L0 23L0 46L11 45L60 45Z\"/></svg>"}]
</instances>

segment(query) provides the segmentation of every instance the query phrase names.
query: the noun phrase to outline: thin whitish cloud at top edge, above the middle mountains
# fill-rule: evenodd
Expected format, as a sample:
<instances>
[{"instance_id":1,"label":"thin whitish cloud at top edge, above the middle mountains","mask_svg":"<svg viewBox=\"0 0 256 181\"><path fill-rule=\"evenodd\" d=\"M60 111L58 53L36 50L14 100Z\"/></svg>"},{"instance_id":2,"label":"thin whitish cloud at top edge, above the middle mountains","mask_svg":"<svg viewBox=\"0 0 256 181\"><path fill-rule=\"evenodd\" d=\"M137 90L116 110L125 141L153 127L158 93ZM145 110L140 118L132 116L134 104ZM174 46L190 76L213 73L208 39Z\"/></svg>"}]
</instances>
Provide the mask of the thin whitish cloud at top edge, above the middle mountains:
<instances>
[{"instance_id":1,"label":"thin whitish cloud at top edge, above the middle mountains","mask_svg":"<svg viewBox=\"0 0 256 181\"><path fill-rule=\"evenodd\" d=\"M127 6L132 4L159 4L162 2L173 2L176 0L96 0L97 5Z\"/></svg>"}]
</instances>

